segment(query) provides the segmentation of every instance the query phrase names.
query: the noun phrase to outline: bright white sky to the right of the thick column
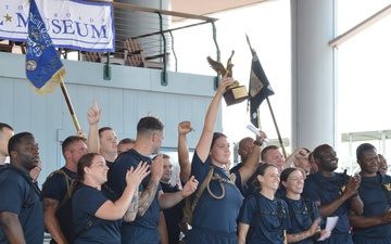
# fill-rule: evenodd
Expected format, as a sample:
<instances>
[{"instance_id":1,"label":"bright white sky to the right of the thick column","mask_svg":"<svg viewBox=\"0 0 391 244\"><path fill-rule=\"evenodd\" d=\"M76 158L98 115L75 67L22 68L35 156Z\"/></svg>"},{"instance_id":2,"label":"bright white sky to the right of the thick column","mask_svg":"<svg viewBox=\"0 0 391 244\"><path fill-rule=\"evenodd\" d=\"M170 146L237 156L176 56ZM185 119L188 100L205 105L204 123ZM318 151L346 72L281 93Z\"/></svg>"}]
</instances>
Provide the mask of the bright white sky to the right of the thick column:
<instances>
[{"instance_id":1,"label":"bright white sky to the right of the thick column","mask_svg":"<svg viewBox=\"0 0 391 244\"><path fill-rule=\"evenodd\" d=\"M339 34L389 5L386 0L338 1ZM353 7L353 8L352 8ZM352 11L354 10L354 11ZM391 16L354 36L338 49L339 114L342 133L391 129L388 98L391 81ZM391 142L368 141L390 162ZM340 155L355 164L355 149L362 142L341 143ZM351 153L349 153L351 150ZM340 156L340 157L341 157Z\"/></svg>"}]
</instances>

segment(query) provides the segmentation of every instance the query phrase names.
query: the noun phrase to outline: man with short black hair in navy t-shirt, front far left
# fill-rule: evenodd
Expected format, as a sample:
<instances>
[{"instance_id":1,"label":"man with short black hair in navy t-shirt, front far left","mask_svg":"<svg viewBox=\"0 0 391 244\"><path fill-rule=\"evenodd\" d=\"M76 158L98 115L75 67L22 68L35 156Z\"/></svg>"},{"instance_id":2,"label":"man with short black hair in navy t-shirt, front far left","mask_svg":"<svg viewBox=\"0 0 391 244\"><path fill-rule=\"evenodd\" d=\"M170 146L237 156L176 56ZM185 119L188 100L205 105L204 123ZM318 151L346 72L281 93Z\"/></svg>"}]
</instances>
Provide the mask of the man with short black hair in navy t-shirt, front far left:
<instances>
[{"instance_id":1,"label":"man with short black hair in navy t-shirt, front far left","mask_svg":"<svg viewBox=\"0 0 391 244\"><path fill-rule=\"evenodd\" d=\"M40 163L34 136L22 132L8 144L10 166L0 177L0 243L42 243L41 192L29 171Z\"/></svg>"}]
</instances>

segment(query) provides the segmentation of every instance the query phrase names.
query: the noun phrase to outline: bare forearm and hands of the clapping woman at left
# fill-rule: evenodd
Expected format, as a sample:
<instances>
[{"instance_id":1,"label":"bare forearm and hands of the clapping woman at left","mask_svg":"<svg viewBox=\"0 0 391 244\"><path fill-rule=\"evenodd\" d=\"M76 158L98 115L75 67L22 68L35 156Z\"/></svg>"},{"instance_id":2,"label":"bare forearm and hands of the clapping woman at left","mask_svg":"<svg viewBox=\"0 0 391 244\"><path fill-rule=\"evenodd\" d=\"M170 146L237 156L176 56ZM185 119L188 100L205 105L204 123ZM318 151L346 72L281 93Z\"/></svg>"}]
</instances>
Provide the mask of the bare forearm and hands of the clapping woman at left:
<instances>
[{"instance_id":1,"label":"bare forearm and hands of the clapping woman at left","mask_svg":"<svg viewBox=\"0 0 391 244\"><path fill-rule=\"evenodd\" d=\"M137 189L143 178L150 172L147 163L139 164L136 169L133 167L126 172L126 188L122 196L115 202L106 201L96 213L96 216L105 220L117 220L124 217L129 205L137 194Z\"/></svg>"}]
</instances>

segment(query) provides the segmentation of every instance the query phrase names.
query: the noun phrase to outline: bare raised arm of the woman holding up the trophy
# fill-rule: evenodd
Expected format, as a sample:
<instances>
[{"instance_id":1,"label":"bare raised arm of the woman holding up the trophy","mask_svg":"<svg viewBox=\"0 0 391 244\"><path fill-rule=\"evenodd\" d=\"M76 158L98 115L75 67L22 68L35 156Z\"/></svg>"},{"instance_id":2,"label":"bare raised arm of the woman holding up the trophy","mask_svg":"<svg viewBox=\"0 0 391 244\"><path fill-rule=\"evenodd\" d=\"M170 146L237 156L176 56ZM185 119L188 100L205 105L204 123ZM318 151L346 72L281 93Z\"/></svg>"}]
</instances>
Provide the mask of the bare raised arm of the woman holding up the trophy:
<instances>
[{"instance_id":1,"label":"bare raised arm of the woman holding up the trophy","mask_svg":"<svg viewBox=\"0 0 391 244\"><path fill-rule=\"evenodd\" d=\"M212 102L207 108L204 127L202 129L201 138L199 143L197 144L197 153L202 162L205 162L213 139L214 128L217 121L217 113L219 108L219 103L222 101L222 97L226 90L226 88L234 82L234 78L225 76L218 84L218 89L213 97Z\"/></svg>"}]
</instances>

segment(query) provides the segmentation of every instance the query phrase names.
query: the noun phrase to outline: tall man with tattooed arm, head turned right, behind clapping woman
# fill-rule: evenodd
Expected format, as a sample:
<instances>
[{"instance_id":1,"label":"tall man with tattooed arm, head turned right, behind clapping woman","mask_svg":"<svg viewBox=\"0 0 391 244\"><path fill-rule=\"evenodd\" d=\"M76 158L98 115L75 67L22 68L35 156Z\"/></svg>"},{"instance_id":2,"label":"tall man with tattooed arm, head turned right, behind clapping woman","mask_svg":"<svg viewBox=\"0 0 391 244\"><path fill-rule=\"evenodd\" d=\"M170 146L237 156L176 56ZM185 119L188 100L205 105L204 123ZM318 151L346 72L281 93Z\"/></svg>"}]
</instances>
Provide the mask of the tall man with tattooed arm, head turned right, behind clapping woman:
<instances>
[{"instance_id":1,"label":"tall man with tattooed arm, head turned right, behind clapping woman","mask_svg":"<svg viewBox=\"0 0 391 244\"><path fill-rule=\"evenodd\" d=\"M138 214L133 222L123 222L122 243L159 243L157 224L160 210L173 207L186 196L192 194L198 185L194 177L185 184L184 190L175 193L163 193L160 180L163 175L163 154L157 154L164 139L164 126L155 117L143 117L137 124L135 146L122 153L113 165L109 181L117 195L122 195L126 187L125 175L129 168L140 162L148 162L151 174L139 185ZM153 160L150 155L157 154Z\"/></svg>"}]
</instances>

